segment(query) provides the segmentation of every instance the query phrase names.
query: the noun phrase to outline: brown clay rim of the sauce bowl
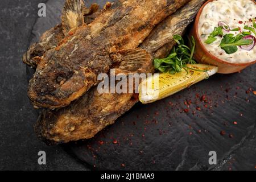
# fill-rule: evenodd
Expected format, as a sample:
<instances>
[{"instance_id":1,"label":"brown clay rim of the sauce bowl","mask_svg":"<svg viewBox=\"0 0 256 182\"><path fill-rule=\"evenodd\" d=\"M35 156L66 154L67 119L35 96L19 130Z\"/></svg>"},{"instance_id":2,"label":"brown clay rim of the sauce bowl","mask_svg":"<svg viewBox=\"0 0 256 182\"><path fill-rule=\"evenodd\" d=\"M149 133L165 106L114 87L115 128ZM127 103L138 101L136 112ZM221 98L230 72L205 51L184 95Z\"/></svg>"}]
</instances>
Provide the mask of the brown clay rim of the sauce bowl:
<instances>
[{"instance_id":1,"label":"brown clay rim of the sauce bowl","mask_svg":"<svg viewBox=\"0 0 256 182\"><path fill-rule=\"evenodd\" d=\"M219 63L222 63L222 64L228 64L228 65L233 65L233 66L247 66L247 65L251 65L251 64L254 64L256 63L256 60L254 61L250 61L249 63L229 63L228 61L224 61L224 60L221 60L219 59L217 56L214 56L212 53L208 52L208 50L205 48L204 44L202 43L201 39L200 39L200 36L199 36L199 33L198 33L198 25L199 25L199 19L200 19L200 16L201 16L201 13L204 9L204 7L209 3L209 2L212 2L212 1L215 1L215 0L208 0L207 2L205 2L203 4L203 6L201 6L199 12L197 13L196 15L196 19L195 19L195 24L194 24L194 28L195 28L195 33L196 33L196 38L197 39L197 42L199 43L199 46L201 47L202 51L205 52L205 54L210 57L210 59L213 59ZM256 1L254 0L251 0L253 1L255 4L256 4Z\"/></svg>"}]
</instances>

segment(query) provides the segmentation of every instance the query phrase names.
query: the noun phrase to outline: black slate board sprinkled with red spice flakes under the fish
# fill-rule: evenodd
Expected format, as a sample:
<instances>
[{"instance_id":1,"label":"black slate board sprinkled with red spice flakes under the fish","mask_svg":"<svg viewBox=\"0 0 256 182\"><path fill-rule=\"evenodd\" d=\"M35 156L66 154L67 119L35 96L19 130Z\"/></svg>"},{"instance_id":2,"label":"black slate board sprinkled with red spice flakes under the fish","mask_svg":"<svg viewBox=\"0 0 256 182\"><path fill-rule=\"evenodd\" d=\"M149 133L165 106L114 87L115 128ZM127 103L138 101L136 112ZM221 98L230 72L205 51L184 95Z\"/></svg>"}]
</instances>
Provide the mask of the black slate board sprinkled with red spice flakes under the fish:
<instances>
[{"instance_id":1,"label":"black slate board sprinkled with red spice flakes under the fish","mask_svg":"<svg viewBox=\"0 0 256 182\"><path fill-rule=\"evenodd\" d=\"M47 2L47 17L36 22L31 42L59 22L63 3ZM214 75L164 100L137 104L93 139L63 148L91 169L255 170L255 71L253 65ZM27 68L28 77L32 72ZM208 163L209 151L217 152L215 166Z\"/></svg>"}]
</instances>

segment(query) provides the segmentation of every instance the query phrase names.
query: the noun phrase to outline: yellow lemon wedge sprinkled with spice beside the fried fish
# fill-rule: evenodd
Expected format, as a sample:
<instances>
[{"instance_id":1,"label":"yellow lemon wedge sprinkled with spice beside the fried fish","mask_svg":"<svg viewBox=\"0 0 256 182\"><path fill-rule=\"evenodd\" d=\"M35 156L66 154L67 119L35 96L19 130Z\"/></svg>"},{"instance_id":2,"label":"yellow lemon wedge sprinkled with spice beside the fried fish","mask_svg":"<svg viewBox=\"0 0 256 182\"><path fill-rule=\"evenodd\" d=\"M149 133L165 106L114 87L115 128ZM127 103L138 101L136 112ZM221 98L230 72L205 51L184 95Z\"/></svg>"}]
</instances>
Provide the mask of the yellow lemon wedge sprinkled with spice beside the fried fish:
<instances>
[{"instance_id":1,"label":"yellow lemon wedge sprinkled with spice beside the fried fish","mask_svg":"<svg viewBox=\"0 0 256 182\"><path fill-rule=\"evenodd\" d=\"M143 80L139 85L139 100L143 104L155 102L188 88L218 71L218 67L205 64L187 64L187 71L180 73L159 73Z\"/></svg>"}]
</instances>

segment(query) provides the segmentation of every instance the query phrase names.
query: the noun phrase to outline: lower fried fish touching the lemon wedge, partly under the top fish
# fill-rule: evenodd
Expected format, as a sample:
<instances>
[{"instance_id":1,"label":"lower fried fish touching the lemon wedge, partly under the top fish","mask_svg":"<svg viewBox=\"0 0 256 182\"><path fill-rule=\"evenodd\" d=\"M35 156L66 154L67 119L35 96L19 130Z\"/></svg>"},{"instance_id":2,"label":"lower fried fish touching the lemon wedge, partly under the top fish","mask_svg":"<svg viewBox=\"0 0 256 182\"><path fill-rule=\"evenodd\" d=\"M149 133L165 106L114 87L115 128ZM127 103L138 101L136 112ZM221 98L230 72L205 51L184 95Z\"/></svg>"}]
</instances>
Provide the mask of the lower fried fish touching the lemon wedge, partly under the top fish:
<instances>
[{"instance_id":1,"label":"lower fried fish touching the lemon wedge, partly under the top fish","mask_svg":"<svg viewBox=\"0 0 256 182\"><path fill-rule=\"evenodd\" d=\"M189 24L188 22L191 22L192 19L195 18L203 2L202 0L192 0L175 14L165 19L163 23L155 27L149 36L150 39L147 39L147 41L143 42L141 45L141 48L143 47L150 53L143 51L141 48L138 48L137 51L122 52L122 56L119 57L126 58L121 60L123 63L122 67L115 67L119 69L118 72L120 73L122 72L121 70L123 70L125 74L129 72L154 73L150 55L155 57L155 51L158 52L159 47L162 49L170 42L173 42L172 38L175 34L184 32ZM187 17L187 14L191 16L184 22L183 17ZM165 26L162 26L163 24ZM185 25L177 27L177 24ZM172 27L177 27L179 30ZM166 34L167 30L172 31ZM166 36L162 38L161 35ZM169 46L167 47L166 49L162 49L160 56L170 52L171 48L169 48ZM139 67L136 67L133 63L141 64ZM97 88L94 87L67 107L55 111L44 110L38 118L35 131L38 137L47 144L89 139L94 137L94 135L106 126L113 124L118 117L130 110L137 102L137 94L100 94Z\"/></svg>"}]
</instances>

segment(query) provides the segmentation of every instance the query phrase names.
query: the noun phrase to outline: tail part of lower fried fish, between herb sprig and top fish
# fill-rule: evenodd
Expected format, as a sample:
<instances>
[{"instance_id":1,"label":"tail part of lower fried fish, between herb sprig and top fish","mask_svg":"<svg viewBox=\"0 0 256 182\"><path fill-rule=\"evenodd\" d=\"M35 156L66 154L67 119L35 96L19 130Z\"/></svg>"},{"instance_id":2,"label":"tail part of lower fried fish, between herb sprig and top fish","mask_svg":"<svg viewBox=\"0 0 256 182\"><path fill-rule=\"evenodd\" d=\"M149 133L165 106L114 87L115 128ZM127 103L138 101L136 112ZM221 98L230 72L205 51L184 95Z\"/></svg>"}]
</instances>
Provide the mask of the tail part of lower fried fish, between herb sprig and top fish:
<instances>
[{"instance_id":1,"label":"tail part of lower fried fish, between herb sprig and top fish","mask_svg":"<svg viewBox=\"0 0 256 182\"><path fill-rule=\"evenodd\" d=\"M192 0L166 20L159 23L143 41L141 48L146 49L150 53L155 52L156 57L166 57L166 53L168 54L175 45L174 35L184 34L185 28L193 22L204 2L205 0Z\"/></svg>"}]
</instances>

